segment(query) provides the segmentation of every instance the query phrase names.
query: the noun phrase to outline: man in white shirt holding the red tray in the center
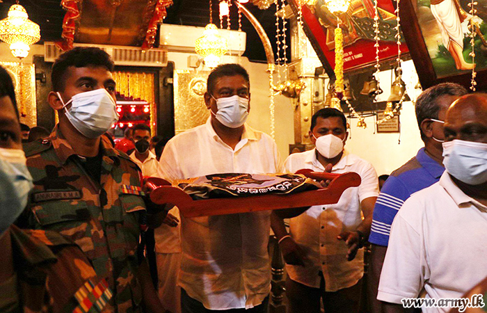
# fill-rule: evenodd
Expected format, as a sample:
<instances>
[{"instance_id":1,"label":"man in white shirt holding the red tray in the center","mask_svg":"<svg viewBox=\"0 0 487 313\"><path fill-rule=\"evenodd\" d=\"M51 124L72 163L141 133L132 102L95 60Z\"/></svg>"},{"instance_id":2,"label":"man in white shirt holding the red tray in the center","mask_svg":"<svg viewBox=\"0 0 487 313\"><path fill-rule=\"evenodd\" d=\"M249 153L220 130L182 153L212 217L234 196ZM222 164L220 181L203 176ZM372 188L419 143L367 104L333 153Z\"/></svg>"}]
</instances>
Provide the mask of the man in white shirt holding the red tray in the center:
<instances>
[{"instance_id":1,"label":"man in white shirt holding the red tray in the center","mask_svg":"<svg viewBox=\"0 0 487 313\"><path fill-rule=\"evenodd\" d=\"M174 182L225 172L283 172L276 143L245 124L249 88L248 73L240 65L216 67L205 93L211 118L167 143L158 175ZM270 215L181 216L182 312L266 312Z\"/></svg>"}]
</instances>

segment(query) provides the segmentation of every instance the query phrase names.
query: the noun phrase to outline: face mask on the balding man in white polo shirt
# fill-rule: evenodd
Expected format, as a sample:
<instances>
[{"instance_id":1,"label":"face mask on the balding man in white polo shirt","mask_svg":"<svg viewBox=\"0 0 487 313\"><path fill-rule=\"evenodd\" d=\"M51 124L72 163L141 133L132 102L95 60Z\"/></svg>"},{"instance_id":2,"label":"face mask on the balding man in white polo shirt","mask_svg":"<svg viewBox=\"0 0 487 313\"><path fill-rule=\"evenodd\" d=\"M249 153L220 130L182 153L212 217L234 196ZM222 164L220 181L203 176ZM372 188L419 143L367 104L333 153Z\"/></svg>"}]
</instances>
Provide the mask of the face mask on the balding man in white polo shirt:
<instances>
[{"instance_id":1,"label":"face mask on the balding man in white polo shirt","mask_svg":"<svg viewBox=\"0 0 487 313\"><path fill-rule=\"evenodd\" d=\"M443 164L450 175L469 185L487 182L487 143L447 141L443 145Z\"/></svg>"}]
</instances>

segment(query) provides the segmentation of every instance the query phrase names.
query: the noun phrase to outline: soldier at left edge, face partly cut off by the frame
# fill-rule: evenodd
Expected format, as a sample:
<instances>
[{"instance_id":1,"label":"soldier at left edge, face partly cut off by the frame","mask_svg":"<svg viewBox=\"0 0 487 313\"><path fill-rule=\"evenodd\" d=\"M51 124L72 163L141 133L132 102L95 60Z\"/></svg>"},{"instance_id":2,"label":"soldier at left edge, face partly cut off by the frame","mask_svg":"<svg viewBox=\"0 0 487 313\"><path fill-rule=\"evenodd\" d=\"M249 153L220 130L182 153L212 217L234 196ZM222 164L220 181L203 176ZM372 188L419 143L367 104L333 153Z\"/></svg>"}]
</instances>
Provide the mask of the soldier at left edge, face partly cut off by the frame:
<instances>
[{"instance_id":1,"label":"soldier at left edge, face partly cut off by the frame","mask_svg":"<svg viewBox=\"0 0 487 313\"><path fill-rule=\"evenodd\" d=\"M76 244L11 225L32 188L20 138L13 83L0 67L0 312L113 312L106 281Z\"/></svg>"}]
</instances>

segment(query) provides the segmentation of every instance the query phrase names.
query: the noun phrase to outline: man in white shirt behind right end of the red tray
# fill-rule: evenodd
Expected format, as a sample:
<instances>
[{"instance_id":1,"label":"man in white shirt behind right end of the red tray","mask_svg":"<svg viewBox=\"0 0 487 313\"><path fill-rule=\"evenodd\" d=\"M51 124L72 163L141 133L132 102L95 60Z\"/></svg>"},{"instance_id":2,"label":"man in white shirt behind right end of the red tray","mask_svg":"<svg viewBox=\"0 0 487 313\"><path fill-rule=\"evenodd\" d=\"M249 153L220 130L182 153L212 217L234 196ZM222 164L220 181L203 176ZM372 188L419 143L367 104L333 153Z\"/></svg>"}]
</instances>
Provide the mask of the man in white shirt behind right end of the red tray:
<instances>
[{"instance_id":1,"label":"man in white shirt behind right end of the red tray","mask_svg":"<svg viewBox=\"0 0 487 313\"><path fill-rule=\"evenodd\" d=\"M335 173L357 172L362 179L360 186L346 189L337 204L310 207L291 218L289 234L282 218L296 214L273 211L272 227L287 262L290 312L320 312L320 298L327 313L358 312L364 272L363 251L358 249L369 236L378 178L369 162L344 150L347 136L344 114L321 109L311 122L316 148L291 154L285 162L288 172L331 167Z\"/></svg>"}]
</instances>

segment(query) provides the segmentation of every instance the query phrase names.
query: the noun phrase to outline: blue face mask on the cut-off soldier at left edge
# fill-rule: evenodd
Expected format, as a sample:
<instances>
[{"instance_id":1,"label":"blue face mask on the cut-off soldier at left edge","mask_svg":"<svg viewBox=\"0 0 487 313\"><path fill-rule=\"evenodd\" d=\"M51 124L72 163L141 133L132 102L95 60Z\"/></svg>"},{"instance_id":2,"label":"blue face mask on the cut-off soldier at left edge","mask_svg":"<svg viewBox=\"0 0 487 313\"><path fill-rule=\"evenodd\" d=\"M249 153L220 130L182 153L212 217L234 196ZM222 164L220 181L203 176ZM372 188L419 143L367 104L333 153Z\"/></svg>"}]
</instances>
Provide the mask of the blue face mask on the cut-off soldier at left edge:
<instances>
[{"instance_id":1,"label":"blue face mask on the cut-off soldier at left edge","mask_svg":"<svg viewBox=\"0 0 487 313\"><path fill-rule=\"evenodd\" d=\"M0 148L0 234L24 211L32 187L24 151Z\"/></svg>"}]
</instances>

